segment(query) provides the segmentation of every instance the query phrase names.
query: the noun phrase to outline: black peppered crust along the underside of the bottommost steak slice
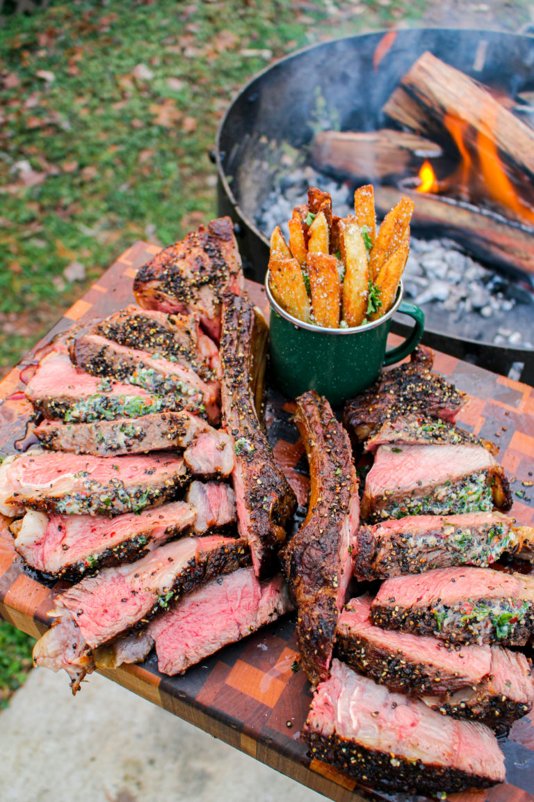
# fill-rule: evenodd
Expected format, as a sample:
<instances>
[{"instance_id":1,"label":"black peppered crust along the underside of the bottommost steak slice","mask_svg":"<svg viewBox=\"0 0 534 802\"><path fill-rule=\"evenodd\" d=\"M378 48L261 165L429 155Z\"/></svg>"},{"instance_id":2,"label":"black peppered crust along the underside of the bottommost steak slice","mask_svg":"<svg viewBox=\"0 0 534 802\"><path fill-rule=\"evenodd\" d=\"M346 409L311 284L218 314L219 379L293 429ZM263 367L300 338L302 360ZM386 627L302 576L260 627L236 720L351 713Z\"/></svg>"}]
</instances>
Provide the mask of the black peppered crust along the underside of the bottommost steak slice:
<instances>
[{"instance_id":1,"label":"black peppered crust along the underside of the bottommost steak slice","mask_svg":"<svg viewBox=\"0 0 534 802\"><path fill-rule=\"evenodd\" d=\"M407 760L402 755L363 747L339 735L325 737L307 732L304 738L315 759L387 792L402 789L408 794L432 795L462 791L472 785L490 788L496 782L490 777L474 776L457 768L424 764L420 760Z\"/></svg>"}]
</instances>

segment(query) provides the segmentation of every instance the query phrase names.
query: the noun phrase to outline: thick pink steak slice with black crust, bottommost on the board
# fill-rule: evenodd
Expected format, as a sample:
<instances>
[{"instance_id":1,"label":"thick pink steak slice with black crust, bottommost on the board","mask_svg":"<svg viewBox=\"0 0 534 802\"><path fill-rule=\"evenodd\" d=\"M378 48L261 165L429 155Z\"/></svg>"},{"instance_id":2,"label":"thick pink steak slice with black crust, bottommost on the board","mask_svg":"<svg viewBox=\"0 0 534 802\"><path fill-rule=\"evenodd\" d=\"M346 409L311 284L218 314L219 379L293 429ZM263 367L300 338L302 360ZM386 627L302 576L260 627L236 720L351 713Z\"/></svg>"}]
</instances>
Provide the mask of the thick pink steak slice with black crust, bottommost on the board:
<instances>
[{"instance_id":1,"label":"thick pink steak slice with black crust, bottommost on the board","mask_svg":"<svg viewBox=\"0 0 534 802\"><path fill-rule=\"evenodd\" d=\"M382 791L433 796L504 781L504 755L484 724L440 716L338 660L303 737L314 758Z\"/></svg>"}]
</instances>

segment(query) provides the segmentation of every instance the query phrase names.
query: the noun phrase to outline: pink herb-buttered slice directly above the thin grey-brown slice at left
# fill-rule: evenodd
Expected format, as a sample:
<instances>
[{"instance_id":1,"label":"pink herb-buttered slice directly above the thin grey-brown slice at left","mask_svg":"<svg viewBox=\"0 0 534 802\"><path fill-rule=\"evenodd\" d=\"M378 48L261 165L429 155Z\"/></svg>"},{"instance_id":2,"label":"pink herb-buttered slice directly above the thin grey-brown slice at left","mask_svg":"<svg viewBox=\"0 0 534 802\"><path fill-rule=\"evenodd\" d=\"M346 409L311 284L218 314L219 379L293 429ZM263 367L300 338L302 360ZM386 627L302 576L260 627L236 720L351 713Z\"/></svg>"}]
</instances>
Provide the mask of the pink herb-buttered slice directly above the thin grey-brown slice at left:
<instances>
[{"instance_id":1,"label":"pink herb-buttered slice directly above the thin grey-brown slice at left","mask_svg":"<svg viewBox=\"0 0 534 802\"><path fill-rule=\"evenodd\" d=\"M182 406L174 395L150 395L141 387L111 383L78 371L66 346L59 345L42 358L25 392L46 418L69 423L139 418Z\"/></svg>"}]
</instances>

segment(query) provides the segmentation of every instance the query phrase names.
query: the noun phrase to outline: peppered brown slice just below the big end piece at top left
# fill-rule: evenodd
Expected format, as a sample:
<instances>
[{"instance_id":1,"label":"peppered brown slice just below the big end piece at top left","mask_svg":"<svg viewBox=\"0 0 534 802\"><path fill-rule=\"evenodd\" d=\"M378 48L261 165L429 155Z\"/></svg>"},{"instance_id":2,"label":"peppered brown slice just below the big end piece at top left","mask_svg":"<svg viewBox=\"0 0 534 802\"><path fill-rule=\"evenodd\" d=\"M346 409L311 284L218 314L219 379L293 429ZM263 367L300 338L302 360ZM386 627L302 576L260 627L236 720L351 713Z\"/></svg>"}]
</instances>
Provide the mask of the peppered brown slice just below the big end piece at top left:
<instances>
[{"instance_id":1,"label":"peppered brown slice just below the big end piece at top left","mask_svg":"<svg viewBox=\"0 0 534 802\"><path fill-rule=\"evenodd\" d=\"M130 304L96 323L89 333L152 356L159 354L191 368L206 382L215 379L220 371L219 350L192 314L167 314Z\"/></svg>"}]
</instances>

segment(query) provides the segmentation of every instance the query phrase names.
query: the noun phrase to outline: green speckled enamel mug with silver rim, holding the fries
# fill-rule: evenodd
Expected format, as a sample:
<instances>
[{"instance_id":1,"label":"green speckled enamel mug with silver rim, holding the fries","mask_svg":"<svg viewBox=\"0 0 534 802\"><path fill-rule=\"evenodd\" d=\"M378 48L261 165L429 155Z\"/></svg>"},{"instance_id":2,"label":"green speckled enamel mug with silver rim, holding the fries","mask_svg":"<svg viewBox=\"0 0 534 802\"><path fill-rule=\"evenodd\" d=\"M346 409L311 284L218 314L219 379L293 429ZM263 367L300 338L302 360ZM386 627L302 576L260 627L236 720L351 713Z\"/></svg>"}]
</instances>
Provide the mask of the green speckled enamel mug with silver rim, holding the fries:
<instances>
[{"instance_id":1,"label":"green speckled enamel mug with silver rim, holding the fries","mask_svg":"<svg viewBox=\"0 0 534 802\"><path fill-rule=\"evenodd\" d=\"M403 301L402 282L395 303L382 318L352 329L325 329L294 318L273 298L268 271L265 290L271 305L271 376L290 398L315 389L332 407L342 407L375 381L383 365L411 354L423 336L424 312ZM386 350L395 312L413 318L415 326L404 342Z\"/></svg>"}]
</instances>

